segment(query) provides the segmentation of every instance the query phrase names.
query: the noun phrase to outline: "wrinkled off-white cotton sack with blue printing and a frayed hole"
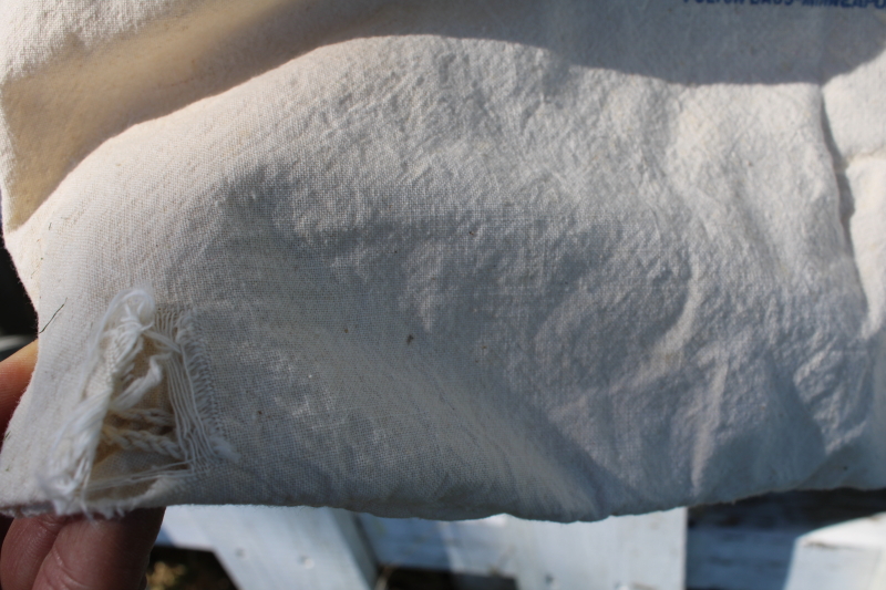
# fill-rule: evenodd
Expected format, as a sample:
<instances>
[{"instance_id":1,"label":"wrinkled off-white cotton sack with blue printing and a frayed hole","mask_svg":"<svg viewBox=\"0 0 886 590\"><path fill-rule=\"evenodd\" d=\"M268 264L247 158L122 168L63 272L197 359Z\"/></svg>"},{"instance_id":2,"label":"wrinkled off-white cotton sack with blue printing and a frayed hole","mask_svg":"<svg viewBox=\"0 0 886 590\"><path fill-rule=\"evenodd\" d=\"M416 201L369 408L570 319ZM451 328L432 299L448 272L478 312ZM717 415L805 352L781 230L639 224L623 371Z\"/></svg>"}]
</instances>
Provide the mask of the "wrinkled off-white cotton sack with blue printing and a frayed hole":
<instances>
[{"instance_id":1,"label":"wrinkled off-white cotton sack with blue printing and a frayed hole","mask_svg":"<svg viewBox=\"0 0 886 590\"><path fill-rule=\"evenodd\" d=\"M886 0L0 4L0 507L886 486Z\"/></svg>"}]
</instances>

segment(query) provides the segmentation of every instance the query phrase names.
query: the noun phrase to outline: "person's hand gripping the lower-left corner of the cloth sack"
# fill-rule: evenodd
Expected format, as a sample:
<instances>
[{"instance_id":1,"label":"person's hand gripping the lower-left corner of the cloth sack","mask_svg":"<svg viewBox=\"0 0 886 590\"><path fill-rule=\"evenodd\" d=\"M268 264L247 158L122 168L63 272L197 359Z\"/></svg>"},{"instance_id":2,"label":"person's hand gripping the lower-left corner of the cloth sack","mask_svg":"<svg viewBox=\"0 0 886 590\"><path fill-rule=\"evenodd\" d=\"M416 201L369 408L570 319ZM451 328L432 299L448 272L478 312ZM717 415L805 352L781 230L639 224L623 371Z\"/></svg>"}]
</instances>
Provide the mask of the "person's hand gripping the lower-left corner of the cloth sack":
<instances>
[{"instance_id":1,"label":"person's hand gripping the lower-left corner of the cloth sack","mask_svg":"<svg viewBox=\"0 0 886 590\"><path fill-rule=\"evenodd\" d=\"M0 362L0 431L31 380L37 342ZM144 588L148 553L163 508L122 518L42 515L0 517L3 590L126 590Z\"/></svg>"}]
</instances>

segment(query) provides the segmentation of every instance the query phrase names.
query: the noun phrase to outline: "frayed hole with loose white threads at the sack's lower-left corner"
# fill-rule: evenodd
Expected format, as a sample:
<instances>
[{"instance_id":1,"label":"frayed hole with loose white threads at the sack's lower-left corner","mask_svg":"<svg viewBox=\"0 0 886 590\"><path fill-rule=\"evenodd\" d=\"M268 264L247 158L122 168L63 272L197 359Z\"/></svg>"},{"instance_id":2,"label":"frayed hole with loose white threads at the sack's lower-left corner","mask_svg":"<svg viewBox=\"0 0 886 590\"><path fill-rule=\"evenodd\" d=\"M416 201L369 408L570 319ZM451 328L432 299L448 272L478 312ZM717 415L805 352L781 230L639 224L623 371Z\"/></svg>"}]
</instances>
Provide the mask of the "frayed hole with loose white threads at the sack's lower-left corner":
<instances>
[{"instance_id":1,"label":"frayed hole with loose white threads at the sack's lower-left corner","mask_svg":"<svg viewBox=\"0 0 886 590\"><path fill-rule=\"evenodd\" d=\"M143 363L143 373L135 375L136 359L144 360L147 346L153 353ZM112 500L96 493L161 477L179 479L213 459L238 459L217 427L214 389L190 313L159 311L150 288L126 289L109 304L87 351L81 400L37 474L56 514L122 514L137 507L138 497ZM144 407L146 396L162 385L168 408ZM96 482L93 467L101 444L166 460Z\"/></svg>"}]
</instances>

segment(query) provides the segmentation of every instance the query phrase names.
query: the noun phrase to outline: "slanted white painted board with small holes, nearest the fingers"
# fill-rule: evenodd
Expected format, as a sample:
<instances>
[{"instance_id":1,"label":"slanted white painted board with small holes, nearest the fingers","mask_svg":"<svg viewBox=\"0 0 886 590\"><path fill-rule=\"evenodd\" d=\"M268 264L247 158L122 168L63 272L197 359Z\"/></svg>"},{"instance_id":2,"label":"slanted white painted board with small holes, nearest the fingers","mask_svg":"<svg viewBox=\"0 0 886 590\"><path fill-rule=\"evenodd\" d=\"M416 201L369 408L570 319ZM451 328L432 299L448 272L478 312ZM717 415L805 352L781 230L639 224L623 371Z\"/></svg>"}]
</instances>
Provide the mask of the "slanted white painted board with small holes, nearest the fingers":
<instances>
[{"instance_id":1,"label":"slanted white painted board with small holes, nearest the fingers","mask_svg":"<svg viewBox=\"0 0 886 590\"><path fill-rule=\"evenodd\" d=\"M239 590L369 590L375 563L350 513L272 506L173 506L163 535L212 549Z\"/></svg>"}]
</instances>

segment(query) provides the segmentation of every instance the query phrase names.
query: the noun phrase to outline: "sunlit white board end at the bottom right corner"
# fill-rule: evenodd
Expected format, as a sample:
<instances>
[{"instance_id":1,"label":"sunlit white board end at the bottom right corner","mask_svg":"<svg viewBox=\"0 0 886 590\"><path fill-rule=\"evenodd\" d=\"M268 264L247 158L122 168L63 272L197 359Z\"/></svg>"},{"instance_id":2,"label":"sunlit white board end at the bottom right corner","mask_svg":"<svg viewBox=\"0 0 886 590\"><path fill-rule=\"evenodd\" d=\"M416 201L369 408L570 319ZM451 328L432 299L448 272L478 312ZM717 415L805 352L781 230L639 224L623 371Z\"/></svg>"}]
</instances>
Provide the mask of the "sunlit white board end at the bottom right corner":
<instances>
[{"instance_id":1,"label":"sunlit white board end at the bottom right corner","mask_svg":"<svg viewBox=\"0 0 886 590\"><path fill-rule=\"evenodd\" d=\"M803 535L785 590L886 589L886 514Z\"/></svg>"}]
</instances>

